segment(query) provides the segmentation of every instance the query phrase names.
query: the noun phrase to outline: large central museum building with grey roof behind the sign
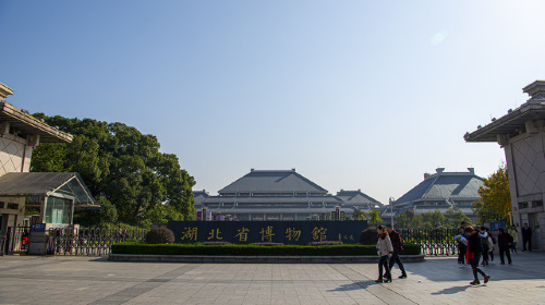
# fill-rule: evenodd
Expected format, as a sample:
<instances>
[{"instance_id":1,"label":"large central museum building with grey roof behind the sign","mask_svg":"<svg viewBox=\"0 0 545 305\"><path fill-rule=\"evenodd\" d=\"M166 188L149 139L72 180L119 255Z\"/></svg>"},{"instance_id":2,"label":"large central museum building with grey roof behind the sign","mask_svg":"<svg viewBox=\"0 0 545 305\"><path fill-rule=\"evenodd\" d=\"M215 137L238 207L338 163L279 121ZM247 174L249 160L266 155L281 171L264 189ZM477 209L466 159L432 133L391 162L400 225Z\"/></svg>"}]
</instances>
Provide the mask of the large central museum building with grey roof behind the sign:
<instances>
[{"instance_id":1,"label":"large central museum building with grey roof behind the sign","mask_svg":"<svg viewBox=\"0 0 545 305\"><path fill-rule=\"evenodd\" d=\"M352 216L354 210L295 169L252 169L218 194L206 197L207 193L194 191L195 196L201 196L201 209L238 220L327 220L337 208L344 216Z\"/></svg>"}]
</instances>

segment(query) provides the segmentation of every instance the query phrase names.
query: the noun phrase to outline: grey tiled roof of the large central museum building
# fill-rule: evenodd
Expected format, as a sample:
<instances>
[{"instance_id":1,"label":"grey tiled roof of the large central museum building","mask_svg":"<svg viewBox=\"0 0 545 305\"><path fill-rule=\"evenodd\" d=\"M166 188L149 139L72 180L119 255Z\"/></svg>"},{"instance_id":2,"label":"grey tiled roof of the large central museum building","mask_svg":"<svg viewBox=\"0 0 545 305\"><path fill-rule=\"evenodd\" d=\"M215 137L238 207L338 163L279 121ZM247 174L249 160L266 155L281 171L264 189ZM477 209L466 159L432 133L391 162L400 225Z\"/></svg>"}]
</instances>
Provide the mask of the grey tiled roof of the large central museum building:
<instances>
[{"instance_id":1,"label":"grey tiled roof of the large central museum building","mask_svg":"<svg viewBox=\"0 0 545 305\"><path fill-rule=\"evenodd\" d=\"M325 194L327 190L324 190L322 186L302 176L294 170L252 170L241 179L221 188L218 193L235 192L311 192Z\"/></svg>"}]
</instances>

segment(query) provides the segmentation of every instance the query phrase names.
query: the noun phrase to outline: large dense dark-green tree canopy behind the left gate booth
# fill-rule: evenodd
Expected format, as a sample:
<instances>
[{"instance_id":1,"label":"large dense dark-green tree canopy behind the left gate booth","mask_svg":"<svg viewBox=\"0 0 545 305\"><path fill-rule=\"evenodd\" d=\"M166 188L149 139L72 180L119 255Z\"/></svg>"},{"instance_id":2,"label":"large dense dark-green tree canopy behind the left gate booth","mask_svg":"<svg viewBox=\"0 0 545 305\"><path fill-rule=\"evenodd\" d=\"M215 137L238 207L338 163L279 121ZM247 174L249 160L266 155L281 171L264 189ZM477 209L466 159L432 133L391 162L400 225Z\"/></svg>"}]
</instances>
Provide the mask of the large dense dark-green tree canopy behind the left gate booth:
<instances>
[{"instance_id":1,"label":"large dense dark-green tree canopy behind the left gate booth","mask_svg":"<svg viewBox=\"0 0 545 305\"><path fill-rule=\"evenodd\" d=\"M159 151L156 136L123 123L34 117L74 135L69 144L40 144L33 151L31 170L82 175L102 210L78 215L80 223L118 220L147 227L193 219L195 180L181 169L175 155Z\"/></svg>"}]
</instances>

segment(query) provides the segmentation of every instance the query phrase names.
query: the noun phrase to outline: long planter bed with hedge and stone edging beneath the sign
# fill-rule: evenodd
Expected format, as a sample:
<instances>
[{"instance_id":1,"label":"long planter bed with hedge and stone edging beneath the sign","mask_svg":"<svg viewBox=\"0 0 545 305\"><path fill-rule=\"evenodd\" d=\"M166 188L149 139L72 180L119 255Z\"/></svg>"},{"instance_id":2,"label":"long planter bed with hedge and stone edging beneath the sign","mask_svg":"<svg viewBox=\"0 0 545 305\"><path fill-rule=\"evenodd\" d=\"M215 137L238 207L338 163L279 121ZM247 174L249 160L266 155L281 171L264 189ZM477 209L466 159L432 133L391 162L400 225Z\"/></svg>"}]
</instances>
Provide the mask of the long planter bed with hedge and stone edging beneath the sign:
<instances>
[{"instance_id":1,"label":"long planter bed with hedge and stone edging beneath the sign","mask_svg":"<svg viewBox=\"0 0 545 305\"><path fill-rule=\"evenodd\" d=\"M401 257L424 260L421 247L403 244ZM110 260L180 263L367 263L377 261L374 245L270 245L145 244L123 242L112 245Z\"/></svg>"}]
</instances>

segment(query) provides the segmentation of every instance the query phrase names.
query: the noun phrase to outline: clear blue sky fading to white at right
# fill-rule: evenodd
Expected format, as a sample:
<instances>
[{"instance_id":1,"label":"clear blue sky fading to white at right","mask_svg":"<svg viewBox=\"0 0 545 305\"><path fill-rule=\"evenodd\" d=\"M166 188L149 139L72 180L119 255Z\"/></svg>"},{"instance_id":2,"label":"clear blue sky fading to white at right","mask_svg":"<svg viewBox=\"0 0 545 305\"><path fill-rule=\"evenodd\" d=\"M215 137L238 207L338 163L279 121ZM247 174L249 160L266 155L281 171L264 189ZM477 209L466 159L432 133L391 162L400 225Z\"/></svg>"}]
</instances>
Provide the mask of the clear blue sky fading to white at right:
<instances>
[{"instance_id":1,"label":"clear blue sky fading to white at right","mask_svg":"<svg viewBox=\"0 0 545 305\"><path fill-rule=\"evenodd\" d=\"M545 1L7 1L0 82L31 112L123 122L195 190L291 169L387 203L545 78Z\"/></svg>"}]
</instances>

